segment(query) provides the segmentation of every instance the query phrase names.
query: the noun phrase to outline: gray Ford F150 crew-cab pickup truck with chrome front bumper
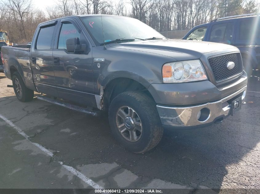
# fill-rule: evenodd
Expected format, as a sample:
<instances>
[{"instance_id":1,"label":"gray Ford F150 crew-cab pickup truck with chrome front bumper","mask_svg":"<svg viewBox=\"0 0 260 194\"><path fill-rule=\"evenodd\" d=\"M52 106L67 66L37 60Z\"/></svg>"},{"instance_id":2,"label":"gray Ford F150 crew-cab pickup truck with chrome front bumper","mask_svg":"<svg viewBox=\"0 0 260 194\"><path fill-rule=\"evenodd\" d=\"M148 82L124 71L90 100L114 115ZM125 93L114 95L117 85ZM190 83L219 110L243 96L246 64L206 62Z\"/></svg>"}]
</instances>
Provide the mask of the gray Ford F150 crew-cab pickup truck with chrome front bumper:
<instances>
[{"instance_id":1,"label":"gray Ford F150 crew-cab pickup truck with chrome front bumper","mask_svg":"<svg viewBox=\"0 0 260 194\"><path fill-rule=\"evenodd\" d=\"M156 146L163 128L221 123L246 95L239 50L169 40L129 17L79 15L38 25L31 46L2 47L20 101L38 99L98 116L126 149Z\"/></svg>"}]
</instances>

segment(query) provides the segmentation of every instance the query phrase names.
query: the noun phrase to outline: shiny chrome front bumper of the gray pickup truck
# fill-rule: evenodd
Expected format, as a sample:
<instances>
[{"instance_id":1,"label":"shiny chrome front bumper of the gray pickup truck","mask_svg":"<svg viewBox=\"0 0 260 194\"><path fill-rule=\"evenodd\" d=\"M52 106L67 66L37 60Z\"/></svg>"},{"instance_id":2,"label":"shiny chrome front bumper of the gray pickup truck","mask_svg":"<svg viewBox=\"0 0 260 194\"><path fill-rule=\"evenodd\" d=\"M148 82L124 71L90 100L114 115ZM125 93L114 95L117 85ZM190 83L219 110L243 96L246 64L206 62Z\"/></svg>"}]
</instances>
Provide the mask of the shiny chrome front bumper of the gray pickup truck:
<instances>
[{"instance_id":1,"label":"shiny chrome front bumper of the gray pickup truck","mask_svg":"<svg viewBox=\"0 0 260 194\"><path fill-rule=\"evenodd\" d=\"M157 105L156 107L163 126L194 127L214 123L217 119L223 119L229 116L231 114L231 104L227 101L240 96L242 96L243 101L246 96L246 86L215 102L190 107L167 107L163 105ZM204 116L202 119L198 119L198 113L200 111L200 115Z\"/></svg>"}]
</instances>

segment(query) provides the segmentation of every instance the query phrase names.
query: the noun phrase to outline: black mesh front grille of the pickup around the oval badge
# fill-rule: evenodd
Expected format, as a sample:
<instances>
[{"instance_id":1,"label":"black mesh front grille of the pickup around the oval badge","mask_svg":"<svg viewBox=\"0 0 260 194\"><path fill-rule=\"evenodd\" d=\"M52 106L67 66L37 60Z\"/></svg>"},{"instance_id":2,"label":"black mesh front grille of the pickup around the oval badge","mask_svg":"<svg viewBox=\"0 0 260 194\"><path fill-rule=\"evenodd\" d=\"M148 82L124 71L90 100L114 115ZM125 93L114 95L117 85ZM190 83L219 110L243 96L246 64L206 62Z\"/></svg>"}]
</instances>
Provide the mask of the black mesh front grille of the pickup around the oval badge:
<instances>
[{"instance_id":1,"label":"black mesh front grille of the pickup around the oval badge","mask_svg":"<svg viewBox=\"0 0 260 194\"><path fill-rule=\"evenodd\" d=\"M208 60L216 82L221 82L234 77L235 75L240 74L243 70L242 60L239 53L211 57ZM227 68L227 63L230 61L235 63L233 69Z\"/></svg>"}]
</instances>

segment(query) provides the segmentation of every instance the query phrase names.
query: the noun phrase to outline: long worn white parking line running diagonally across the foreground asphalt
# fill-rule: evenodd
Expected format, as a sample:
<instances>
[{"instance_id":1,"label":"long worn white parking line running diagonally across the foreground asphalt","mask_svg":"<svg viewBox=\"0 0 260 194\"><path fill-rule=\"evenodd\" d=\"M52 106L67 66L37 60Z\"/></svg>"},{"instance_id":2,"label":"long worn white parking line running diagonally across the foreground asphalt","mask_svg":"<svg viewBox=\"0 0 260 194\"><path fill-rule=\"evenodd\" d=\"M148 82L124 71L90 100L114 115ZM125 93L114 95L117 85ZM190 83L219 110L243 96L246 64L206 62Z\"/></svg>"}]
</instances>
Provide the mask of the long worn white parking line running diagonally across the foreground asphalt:
<instances>
[{"instance_id":1,"label":"long worn white parking line running diagonally across the foreground asphalt","mask_svg":"<svg viewBox=\"0 0 260 194\"><path fill-rule=\"evenodd\" d=\"M2 120L4 120L7 124L9 124L11 127L13 127L18 134L22 135L25 139L27 139L31 144L33 144L34 146L37 146L39 149L41 149L43 152L45 152L46 154L48 154L50 157L53 157L53 153L51 151L49 151L48 149L46 149L45 147L43 147L42 145L38 144L38 143L34 143L31 142L29 140L29 136L25 134L25 132L23 132L19 127L17 127L12 121L8 120L5 116L2 116L0 114L0 118ZM97 183L95 183L93 180L91 180L90 178L86 177L85 175L83 175L82 173L80 173L79 171L77 171L76 169L74 169L71 166L67 166L64 165L62 162L58 162L60 165L62 165L65 169L67 169L69 172L73 173L75 176L79 177L82 181L84 181L86 184L89 184L91 187L95 188L95 189L103 189L100 185L98 185Z\"/></svg>"}]
</instances>

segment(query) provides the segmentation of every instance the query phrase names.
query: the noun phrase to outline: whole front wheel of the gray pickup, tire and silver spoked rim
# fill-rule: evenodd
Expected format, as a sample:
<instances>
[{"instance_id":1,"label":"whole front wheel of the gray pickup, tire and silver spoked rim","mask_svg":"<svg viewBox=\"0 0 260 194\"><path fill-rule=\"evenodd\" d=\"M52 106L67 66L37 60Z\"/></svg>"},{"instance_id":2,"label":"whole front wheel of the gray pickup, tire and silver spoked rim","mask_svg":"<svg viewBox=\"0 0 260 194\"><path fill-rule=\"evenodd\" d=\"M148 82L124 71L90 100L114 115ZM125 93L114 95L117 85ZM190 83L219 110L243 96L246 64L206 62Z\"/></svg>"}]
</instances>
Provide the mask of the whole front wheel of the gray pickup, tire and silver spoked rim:
<instances>
[{"instance_id":1,"label":"whole front wheel of the gray pickup, tire and silver spoked rim","mask_svg":"<svg viewBox=\"0 0 260 194\"><path fill-rule=\"evenodd\" d=\"M109 107L109 123L114 138L134 153L144 153L162 139L156 104L144 93L118 94Z\"/></svg>"}]
</instances>

